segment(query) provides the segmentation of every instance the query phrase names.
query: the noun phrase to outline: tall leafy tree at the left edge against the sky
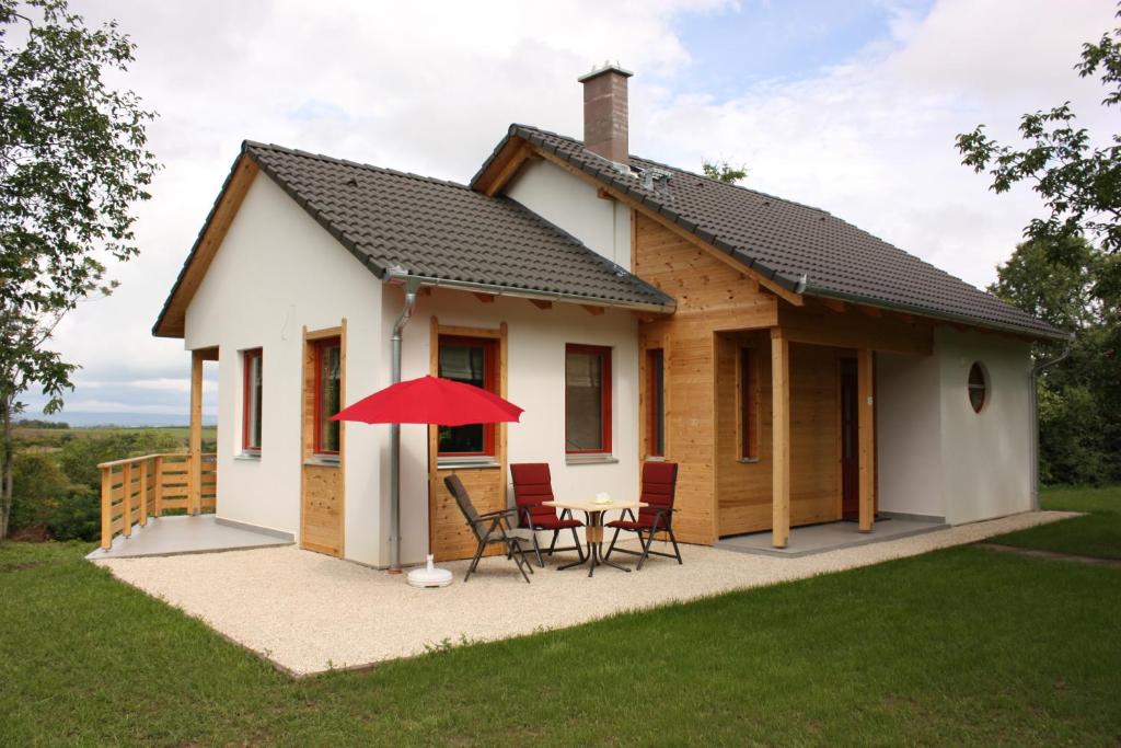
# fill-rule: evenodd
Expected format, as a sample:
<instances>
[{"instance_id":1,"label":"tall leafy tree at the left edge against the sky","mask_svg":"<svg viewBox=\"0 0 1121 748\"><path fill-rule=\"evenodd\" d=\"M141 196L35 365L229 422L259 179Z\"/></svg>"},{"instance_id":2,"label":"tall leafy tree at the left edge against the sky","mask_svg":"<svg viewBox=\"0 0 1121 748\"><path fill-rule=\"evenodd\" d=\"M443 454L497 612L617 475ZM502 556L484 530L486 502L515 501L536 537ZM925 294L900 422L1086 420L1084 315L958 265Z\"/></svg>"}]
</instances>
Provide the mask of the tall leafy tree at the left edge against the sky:
<instances>
[{"instance_id":1,"label":"tall leafy tree at the left edge against the sky","mask_svg":"<svg viewBox=\"0 0 1121 748\"><path fill-rule=\"evenodd\" d=\"M89 28L65 0L0 0L0 539L20 398L38 386L45 412L62 407L76 366L50 335L80 301L112 290L106 261L138 252L131 209L157 168L155 114L103 79L133 49L115 22Z\"/></svg>"}]
</instances>

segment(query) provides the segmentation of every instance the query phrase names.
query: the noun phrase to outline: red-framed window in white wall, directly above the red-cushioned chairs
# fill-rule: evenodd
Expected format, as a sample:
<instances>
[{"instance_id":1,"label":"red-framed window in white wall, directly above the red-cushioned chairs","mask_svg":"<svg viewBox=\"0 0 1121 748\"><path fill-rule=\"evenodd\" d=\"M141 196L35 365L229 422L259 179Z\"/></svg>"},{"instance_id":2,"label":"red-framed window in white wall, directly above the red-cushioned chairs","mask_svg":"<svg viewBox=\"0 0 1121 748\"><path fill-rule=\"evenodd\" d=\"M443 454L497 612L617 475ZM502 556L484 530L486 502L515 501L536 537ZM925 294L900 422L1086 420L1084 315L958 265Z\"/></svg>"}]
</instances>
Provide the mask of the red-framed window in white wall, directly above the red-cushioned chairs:
<instances>
[{"instance_id":1,"label":"red-framed window in white wall, directly above the red-cushioned chairs","mask_svg":"<svg viewBox=\"0 0 1121 748\"><path fill-rule=\"evenodd\" d=\"M565 452L611 452L611 349L565 349Z\"/></svg>"}]
</instances>

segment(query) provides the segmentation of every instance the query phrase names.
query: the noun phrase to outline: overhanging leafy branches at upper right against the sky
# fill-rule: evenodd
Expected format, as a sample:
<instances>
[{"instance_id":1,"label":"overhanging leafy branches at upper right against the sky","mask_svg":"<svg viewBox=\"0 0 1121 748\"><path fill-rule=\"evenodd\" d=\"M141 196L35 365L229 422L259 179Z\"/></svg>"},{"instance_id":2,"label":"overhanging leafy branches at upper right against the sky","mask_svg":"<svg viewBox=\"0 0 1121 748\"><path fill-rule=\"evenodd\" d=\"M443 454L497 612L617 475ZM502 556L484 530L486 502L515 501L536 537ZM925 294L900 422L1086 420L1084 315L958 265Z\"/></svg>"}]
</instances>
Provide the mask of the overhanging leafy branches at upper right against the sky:
<instances>
[{"instance_id":1,"label":"overhanging leafy branches at upper right against the sky","mask_svg":"<svg viewBox=\"0 0 1121 748\"><path fill-rule=\"evenodd\" d=\"M1118 12L1121 18L1121 11ZM1121 28L1102 35L1096 43L1082 48L1082 62L1074 66L1081 77L1101 72L1106 87L1102 105L1121 103ZM1032 182L1032 190L1043 197L1050 215L1032 220L1025 237L1046 242L1057 252L1069 249L1064 240L1085 236L1095 240L1108 253L1121 252L1121 136L1110 136L1108 146L1095 146L1090 132L1075 124L1071 103L1049 111L1036 111L1020 119L1020 135L1027 146L1017 149L1001 145L978 126L972 132L957 136L962 163L981 173L989 170L990 186L997 193L1008 192L1020 182ZM1056 256L1076 266L1075 258ZM1106 268L1099 283L1115 293L1119 281L1117 267Z\"/></svg>"}]
</instances>

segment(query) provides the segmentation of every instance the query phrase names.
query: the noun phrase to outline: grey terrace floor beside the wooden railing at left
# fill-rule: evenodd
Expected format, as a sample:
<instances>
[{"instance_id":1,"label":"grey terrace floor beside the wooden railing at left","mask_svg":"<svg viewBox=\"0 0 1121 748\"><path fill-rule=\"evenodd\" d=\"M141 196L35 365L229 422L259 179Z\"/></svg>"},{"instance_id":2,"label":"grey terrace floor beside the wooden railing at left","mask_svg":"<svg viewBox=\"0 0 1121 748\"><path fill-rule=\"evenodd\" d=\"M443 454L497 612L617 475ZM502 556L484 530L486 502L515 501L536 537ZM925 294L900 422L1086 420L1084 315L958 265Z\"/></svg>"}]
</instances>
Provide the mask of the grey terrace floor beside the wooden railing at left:
<instances>
[{"instance_id":1,"label":"grey terrace floor beside the wooden railing at left","mask_svg":"<svg viewBox=\"0 0 1121 748\"><path fill-rule=\"evenodd\" d=\"M158 517L145 527L135 526L131 537L117 536L109 550L98 548L86 558L138 558L187 553L244 551L291 545L293 537L217 519L214 515Z\"/></svg>"}]
</instances>

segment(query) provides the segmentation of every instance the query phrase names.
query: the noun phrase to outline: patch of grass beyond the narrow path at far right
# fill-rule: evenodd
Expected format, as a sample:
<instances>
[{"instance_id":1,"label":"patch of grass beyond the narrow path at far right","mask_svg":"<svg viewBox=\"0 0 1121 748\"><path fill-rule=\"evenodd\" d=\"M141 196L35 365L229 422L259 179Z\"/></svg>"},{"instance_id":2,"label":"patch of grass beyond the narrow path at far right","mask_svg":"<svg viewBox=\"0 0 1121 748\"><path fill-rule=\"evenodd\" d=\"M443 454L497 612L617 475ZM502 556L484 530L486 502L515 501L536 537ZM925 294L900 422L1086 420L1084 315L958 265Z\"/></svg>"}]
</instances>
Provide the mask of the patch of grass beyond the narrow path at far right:
<instances>
[{"instance_id":1,"label":"patch of grass beyond the narrow path at far right","mask_svg":"<svg viewBox=\"0 0 1121 748\"><path fill-rule=\"evenodd\" d=\"M1082 556L1121 558L1121 486L1050 489L1044 509L1086 511L1086 517L1041 525L992 538L993 543Z\"/></svg>"}]
</instances>

